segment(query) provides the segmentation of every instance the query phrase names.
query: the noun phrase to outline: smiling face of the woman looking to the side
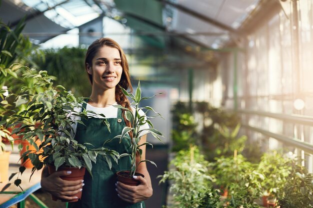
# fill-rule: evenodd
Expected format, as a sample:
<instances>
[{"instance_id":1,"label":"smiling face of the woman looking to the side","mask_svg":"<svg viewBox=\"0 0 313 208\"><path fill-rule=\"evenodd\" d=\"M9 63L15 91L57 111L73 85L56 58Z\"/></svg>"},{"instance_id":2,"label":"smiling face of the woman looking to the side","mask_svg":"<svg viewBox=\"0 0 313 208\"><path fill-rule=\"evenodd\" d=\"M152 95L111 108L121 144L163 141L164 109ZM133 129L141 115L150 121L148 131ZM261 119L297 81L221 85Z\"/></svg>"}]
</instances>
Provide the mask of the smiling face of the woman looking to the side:
<instances>
[{"instance_id":1,"label":"smiling face of the woman looking to the side","mask_svg":"<svg viewBox=\"0 0 313 208\"><path fill-rule=\"evenodd\" d=\"M87 72L92 75L93 89L114 89L122 74L121 58L116 48L103 46L87 64Z\"/></svg>"}]
</instances>

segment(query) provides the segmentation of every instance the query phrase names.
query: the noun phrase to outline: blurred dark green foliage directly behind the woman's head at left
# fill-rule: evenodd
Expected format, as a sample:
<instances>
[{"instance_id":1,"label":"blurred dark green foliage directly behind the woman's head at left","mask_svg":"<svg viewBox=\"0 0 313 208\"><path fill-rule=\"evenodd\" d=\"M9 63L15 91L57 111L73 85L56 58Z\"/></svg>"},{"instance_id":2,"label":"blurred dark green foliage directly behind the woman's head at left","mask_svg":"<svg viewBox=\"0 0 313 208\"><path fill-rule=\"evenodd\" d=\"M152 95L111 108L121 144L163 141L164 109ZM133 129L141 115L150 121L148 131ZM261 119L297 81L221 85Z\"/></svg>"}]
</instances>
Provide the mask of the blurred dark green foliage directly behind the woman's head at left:
<instances>
[{"instance_id":1,"label":"blurred dark green foliage directly behind the woman's head at left","mask_svg":"<svg viewBox=\"0 0 313 208\"><path fill-rule=\"evenodd\" d=\"M63 47L41 50L42 56L32 58L33 65L57 77L56 84L70 89L76 96L89 96L90 82L85 72L86 49Z\"/></svg>"}]
</instances>

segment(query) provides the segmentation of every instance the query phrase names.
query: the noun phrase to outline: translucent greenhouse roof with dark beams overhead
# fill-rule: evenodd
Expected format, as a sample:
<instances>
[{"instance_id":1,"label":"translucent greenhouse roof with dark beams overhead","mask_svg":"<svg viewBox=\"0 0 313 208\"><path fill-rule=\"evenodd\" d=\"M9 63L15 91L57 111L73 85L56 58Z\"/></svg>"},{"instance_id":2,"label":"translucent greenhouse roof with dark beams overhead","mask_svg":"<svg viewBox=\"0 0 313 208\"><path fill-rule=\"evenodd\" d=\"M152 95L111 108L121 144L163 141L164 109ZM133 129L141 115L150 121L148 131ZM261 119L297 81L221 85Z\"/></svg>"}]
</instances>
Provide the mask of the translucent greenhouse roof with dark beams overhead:
<instances>
[{"instance_id":1,"label":"translucent greenhouse roof with dark beams overhead","mask_svg":"<svg viewBox=\"0 0 313 208\"><path fill-rule=\"evenodd\" d=\"M39 42L99 16L132 28L163 47L165 39L220 48L260 0L2 0L4 23L26 15L24 33Z\"/></svg>"}]
</instances>

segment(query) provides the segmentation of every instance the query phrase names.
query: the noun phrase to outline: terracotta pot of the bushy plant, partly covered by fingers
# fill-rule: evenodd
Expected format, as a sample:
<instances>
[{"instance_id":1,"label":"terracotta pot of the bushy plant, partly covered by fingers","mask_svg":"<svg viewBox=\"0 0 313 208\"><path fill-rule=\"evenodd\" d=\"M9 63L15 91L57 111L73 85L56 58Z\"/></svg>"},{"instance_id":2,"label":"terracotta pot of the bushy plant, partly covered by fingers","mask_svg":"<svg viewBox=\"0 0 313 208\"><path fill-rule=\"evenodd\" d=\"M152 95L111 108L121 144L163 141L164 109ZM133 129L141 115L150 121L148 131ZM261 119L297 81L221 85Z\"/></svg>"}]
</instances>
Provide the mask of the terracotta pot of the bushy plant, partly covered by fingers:
<instances>
[{"instance_id":1,"label":"terracotta pot of the bushy plant, partly covered by fingers","mask_svg":"<svg viewBox=\"0 0 313 208\"><path fill-rule=\"evenodd\" d=\"M52 174L55 172L55 167L54 166L48 166L49 174ZM70 168L70 167L59 167L57 171L71 171L71 174L68 176L60 176L61 179L66 180L66 181L76 181L76 180L83 180L83 176L85 175L85 168ZM81 192L78 192L77 194L74 195L77 197L77 199L74 200L61 200L62 202L77 202L78 200L81 199ZM58 198L54 197L51 195L52 200L56 201Z\"/></svg>"}]
</instances>

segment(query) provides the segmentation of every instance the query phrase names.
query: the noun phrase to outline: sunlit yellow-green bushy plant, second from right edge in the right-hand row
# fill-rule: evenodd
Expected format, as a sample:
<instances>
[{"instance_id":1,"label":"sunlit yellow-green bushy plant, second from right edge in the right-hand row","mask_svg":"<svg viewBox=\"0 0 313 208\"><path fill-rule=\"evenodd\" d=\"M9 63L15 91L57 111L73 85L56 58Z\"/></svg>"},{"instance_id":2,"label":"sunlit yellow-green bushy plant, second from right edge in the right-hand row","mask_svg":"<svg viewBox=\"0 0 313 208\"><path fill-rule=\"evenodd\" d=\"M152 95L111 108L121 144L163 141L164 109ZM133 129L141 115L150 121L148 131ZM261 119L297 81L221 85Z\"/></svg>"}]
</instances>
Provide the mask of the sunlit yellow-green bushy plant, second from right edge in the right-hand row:
<instances>
[{"instance_id":1,"label":"sunlit yellow-green bushy plant, second from right edge in the right-hand row","mask_svg":"<svg viewBox=\"0 0 313 208\"><path fill-rule=\"evenodd\" d=\"M265 153L261 157L258 171L263 173L265 177L261 182L265 196L269 195L277 198L278 194L282 192L291 170L291 166L288 165L289 162L291 162L291 159L277 151Z\"/></svg>"}]
</instances>

